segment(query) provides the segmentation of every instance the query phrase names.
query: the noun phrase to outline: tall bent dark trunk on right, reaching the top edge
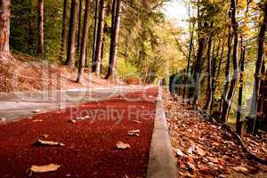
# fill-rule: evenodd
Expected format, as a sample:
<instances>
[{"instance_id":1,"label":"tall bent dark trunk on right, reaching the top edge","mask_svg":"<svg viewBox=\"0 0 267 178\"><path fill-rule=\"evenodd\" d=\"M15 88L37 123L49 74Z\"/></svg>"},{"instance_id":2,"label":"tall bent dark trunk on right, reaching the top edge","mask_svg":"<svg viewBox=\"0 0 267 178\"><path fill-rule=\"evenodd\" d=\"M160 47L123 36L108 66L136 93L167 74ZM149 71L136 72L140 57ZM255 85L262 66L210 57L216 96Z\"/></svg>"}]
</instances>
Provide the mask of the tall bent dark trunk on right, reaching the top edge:
<instances>
[{"instance_id":1,"label":"tall bent dark trunk on right, reaching the top edge","mask_svg":"<svg viewBox=\"0 0 267 178\"><path fill-rule=\"evenodd\" d=\"M230 109L231 102L235 93L235 87L237 85L237 81L239 78L239 62L238 62L238 45L239 45L239 32L238 32L238 23L236 21L236 0L231 0L231 28L233 29L234 36L234 45L233 45L233 54L232 54L232 62L233 62L233 76L231 78L231 85L229 89L229 93L227 94L226 100L223 101L223 113L222 120L226 122Z\"/></svg>"}]
</instances>

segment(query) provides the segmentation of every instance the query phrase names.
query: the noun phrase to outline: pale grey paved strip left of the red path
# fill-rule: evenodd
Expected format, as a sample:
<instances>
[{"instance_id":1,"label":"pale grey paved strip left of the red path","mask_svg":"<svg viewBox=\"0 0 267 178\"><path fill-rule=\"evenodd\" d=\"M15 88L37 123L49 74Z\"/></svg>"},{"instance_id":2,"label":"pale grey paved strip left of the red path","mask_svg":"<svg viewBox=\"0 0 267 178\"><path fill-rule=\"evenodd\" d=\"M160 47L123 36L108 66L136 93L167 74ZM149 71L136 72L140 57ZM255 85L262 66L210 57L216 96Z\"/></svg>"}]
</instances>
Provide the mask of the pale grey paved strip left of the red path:
<instances>
[{"instance_id":1,"label":"pale grey paved strip left of the red path","mask_svg":"<svg viewBox=\"0 0 267 178\"><path fill-rule=\"evenodd\" d=\"M114 86L92 90L0 93L0 117L7 122L36 115L36 109L47 112L64 109L88 101L108 100L117 95L146 90L150 86Z\"/></svg>"}]
</instances>

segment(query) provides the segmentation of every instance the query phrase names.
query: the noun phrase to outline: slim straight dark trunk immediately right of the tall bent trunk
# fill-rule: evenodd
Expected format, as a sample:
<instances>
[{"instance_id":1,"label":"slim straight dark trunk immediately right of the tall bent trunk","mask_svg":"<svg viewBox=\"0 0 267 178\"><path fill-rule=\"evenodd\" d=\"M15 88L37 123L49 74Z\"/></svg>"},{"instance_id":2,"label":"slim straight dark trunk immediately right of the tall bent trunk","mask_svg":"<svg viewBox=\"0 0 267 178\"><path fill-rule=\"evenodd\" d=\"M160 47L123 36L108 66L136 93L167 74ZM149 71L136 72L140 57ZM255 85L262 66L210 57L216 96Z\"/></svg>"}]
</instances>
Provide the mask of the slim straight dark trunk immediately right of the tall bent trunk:
<instances>
[{"instance_id":1,"label":"slim straight dark trunk immediately right of the tall bent trunk","mask_svg":"<svg viewBox=\"0 0 267 178\"><path fill-rule=\"evenodd\" d=\"M241 65L240 65L240 77L239 77L239 104L237 109L237 121L236 121L236 132L237 134L242 134L242 122L241 122L241 109L242 109L242 97L243 97L243 76L244 76L244 65L245 65L245 55L246 49L242 46L241 50Z\"/></svg>"}]
</instances>

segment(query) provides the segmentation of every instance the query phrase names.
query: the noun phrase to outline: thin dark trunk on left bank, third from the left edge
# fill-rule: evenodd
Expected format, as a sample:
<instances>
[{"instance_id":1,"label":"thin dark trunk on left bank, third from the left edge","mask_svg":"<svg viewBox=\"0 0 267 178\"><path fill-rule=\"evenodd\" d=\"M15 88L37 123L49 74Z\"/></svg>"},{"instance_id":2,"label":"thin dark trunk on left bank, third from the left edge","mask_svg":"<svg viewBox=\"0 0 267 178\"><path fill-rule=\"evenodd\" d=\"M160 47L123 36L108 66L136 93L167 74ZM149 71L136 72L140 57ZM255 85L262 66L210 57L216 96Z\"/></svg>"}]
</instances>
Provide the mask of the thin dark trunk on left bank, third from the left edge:
<instances>
[{"instance_id":1,"label":"thin dark trunk on left bank, third from the left edge","mask_svg":"<svg viewBox=\"0 0 267 178\"><path fill-rule=\"evenodd\" d=\"M68 37L67 23L68 23L68 0L64 0L62 32L61 32L61 54L60 54L61 60L65 59L66 57L66 46Z\"/></svg>"}]
</instances>

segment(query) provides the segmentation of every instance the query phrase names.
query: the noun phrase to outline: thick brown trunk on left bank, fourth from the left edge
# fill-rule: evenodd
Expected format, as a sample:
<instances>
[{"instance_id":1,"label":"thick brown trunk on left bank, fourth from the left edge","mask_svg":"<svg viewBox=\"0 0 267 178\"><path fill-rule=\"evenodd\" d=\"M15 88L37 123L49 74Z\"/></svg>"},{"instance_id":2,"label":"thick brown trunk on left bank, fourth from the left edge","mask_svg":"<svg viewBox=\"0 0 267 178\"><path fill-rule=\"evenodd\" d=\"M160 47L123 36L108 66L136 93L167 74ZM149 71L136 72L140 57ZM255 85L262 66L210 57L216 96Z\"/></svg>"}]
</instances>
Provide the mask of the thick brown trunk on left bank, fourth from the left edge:
<instances>
[{"instance_id":1,"label":"thick brown trunk on left bank, fourth from the left edge","mask_svg":"<svg viewBox=\"0 0 267 178\"><path fill-rule=\"evenodd\" d=\"M69 43L66 65L70 68L75 67L75 42L76 42L76 24L78 0L71 0L70 20L69 20Z\"/></svg>"}]
</instances>

